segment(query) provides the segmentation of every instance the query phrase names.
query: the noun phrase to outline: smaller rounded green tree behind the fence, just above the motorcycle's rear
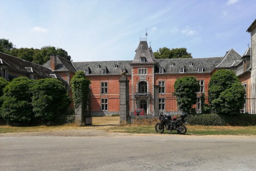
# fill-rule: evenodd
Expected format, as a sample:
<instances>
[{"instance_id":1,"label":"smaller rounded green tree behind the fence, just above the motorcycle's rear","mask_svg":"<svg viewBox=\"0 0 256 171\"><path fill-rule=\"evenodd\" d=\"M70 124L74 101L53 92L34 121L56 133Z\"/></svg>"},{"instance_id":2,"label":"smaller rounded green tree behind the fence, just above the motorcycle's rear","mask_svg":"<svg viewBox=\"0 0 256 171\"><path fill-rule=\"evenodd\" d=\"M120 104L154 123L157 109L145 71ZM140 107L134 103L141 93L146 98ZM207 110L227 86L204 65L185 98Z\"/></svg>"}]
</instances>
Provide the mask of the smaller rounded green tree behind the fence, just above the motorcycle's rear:
<instances>
[{"instance_id":1,"label":"smaller rounded green tree behind the fence, just above the motorcycle's rear","mask_svg":"<svg viewBox=\"0 0 256 171\"><path fill-rule=\"evenodd\" d=\"M196 78L184 76L174 83L174 94L177 96L177 103L180 109L190 114L192 105L197 103L197 91L200 88Z\"/></svg>"}]
</instances>

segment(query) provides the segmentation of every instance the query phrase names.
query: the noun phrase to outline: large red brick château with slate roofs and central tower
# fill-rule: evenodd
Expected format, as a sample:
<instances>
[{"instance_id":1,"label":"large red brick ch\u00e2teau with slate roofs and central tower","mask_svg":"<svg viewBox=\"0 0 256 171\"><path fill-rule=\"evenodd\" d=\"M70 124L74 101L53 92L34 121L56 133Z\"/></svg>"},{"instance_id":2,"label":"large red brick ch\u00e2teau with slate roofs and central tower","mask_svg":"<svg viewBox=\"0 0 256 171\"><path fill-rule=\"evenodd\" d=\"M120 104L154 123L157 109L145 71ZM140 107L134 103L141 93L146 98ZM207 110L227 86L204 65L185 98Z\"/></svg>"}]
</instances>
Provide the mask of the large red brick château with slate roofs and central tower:
<instances>
[{"instance_id":1,"label":"large red brick ch\u00e2teau with slate roofs and central tower","mask_svg":"<svg viewBox=\"0 0 256 171\"><path fill-rule=\"evenodd\" d=\"M255 20L256 21L256 20ZM100 62L70 62L59 56L39 66L14 56L0 53L1 76L14 78L27 76L34 79L59 78L67 82L76 71L84 71L91 80L92 115L104 116L119 113L119 78L125 72L129 80L130 114L136 115L136 109L144 109L145 115L152 115L155 109L164 112L178 111L173 92L174 82L183 76L195 76L200 84L199 93L208 96L208 84L214 72L220 69L233 70L241 83L247 89L246 96L255 99L255 27L253 22L248 28L251 33L251 48L245 54L239 55L233 48L221 57L192 59L155 59L147 39L140 39L133 60L100 61ZM251 55L252 54L252 55ZM254 74L253 74L254 73ZM9 75L9 76L8 76ZM252 79L253 78L253 79ZM71 92L70 92L71 95ZM156 99L157 95L157 101ZM154 101L155 100L155 101ZM251 106L254 101L247 101ZM200 112L200 100L196 104ZM251 112L255 109L246 109Z\"/></svg>"}]
</instances>

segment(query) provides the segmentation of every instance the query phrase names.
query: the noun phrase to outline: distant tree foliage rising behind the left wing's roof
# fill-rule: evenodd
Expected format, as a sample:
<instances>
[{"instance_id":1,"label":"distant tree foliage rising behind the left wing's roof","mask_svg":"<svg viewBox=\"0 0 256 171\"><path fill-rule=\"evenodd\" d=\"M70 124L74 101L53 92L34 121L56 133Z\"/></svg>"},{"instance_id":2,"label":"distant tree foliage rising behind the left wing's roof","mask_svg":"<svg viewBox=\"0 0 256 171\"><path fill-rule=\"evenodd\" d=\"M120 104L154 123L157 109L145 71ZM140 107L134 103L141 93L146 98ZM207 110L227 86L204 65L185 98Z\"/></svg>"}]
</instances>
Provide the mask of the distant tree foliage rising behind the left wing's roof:
<instances>
[{"instance_id":1,"label":"distant tree foliage rising behind the left wing's roof","mask_svg":"<svg viewBox=\"0 0 256 171\"><path fill-rule=\"evenodd\" d=\"M0 39L0 52L16 56L29 62L44 64L51 55L58 55L67 60L71 60L71 56L63 48L56 48L54 46L44 46L38 48L15 48L14 44L6 39Z\"/></svg>"}]
</instances>

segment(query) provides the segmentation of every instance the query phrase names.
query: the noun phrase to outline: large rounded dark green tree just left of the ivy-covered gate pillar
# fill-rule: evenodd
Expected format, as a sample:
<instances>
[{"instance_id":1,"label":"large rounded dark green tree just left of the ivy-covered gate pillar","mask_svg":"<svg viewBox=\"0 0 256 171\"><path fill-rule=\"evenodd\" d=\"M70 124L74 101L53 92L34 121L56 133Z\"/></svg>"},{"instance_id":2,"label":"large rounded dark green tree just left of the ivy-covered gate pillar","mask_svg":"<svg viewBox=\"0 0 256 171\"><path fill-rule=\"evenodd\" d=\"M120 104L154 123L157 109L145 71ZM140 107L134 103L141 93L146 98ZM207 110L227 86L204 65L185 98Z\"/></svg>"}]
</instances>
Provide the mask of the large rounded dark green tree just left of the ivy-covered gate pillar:
<instances>
[{"instance_id":1,"label":"large rounded dark green tree just left of the ivy-covered gate pillar","mask_svg":"<svg viewBox=\"0 0 256 171\"><path fill-rule=\"evenodd\" d=\"M65 120L70 100L62 82L57 79L37 80L31 88L32 107L35 118L43 121Z\"/></svg>"}]
</instances>

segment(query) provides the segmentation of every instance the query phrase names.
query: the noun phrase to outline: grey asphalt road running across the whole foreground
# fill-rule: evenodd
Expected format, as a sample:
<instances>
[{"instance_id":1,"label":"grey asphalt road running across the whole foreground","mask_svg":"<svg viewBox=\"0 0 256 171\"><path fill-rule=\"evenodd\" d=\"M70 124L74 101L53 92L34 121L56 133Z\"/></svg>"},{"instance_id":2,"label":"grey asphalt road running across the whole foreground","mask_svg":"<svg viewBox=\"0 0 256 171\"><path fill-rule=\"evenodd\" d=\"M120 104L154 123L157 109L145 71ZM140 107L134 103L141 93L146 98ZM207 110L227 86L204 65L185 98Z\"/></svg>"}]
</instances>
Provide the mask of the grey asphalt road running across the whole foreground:
<instances>
[{"instance_id":1,"label":"grey asphalt road running across the whole foreground","mask_svg":"<svg viewBox=\"0 0 256 171\"><path fill-rule=\"evenodd\" d=\"M256 170L256 138L1 136L0 170Z\"/></svg>"}]
</instances>

